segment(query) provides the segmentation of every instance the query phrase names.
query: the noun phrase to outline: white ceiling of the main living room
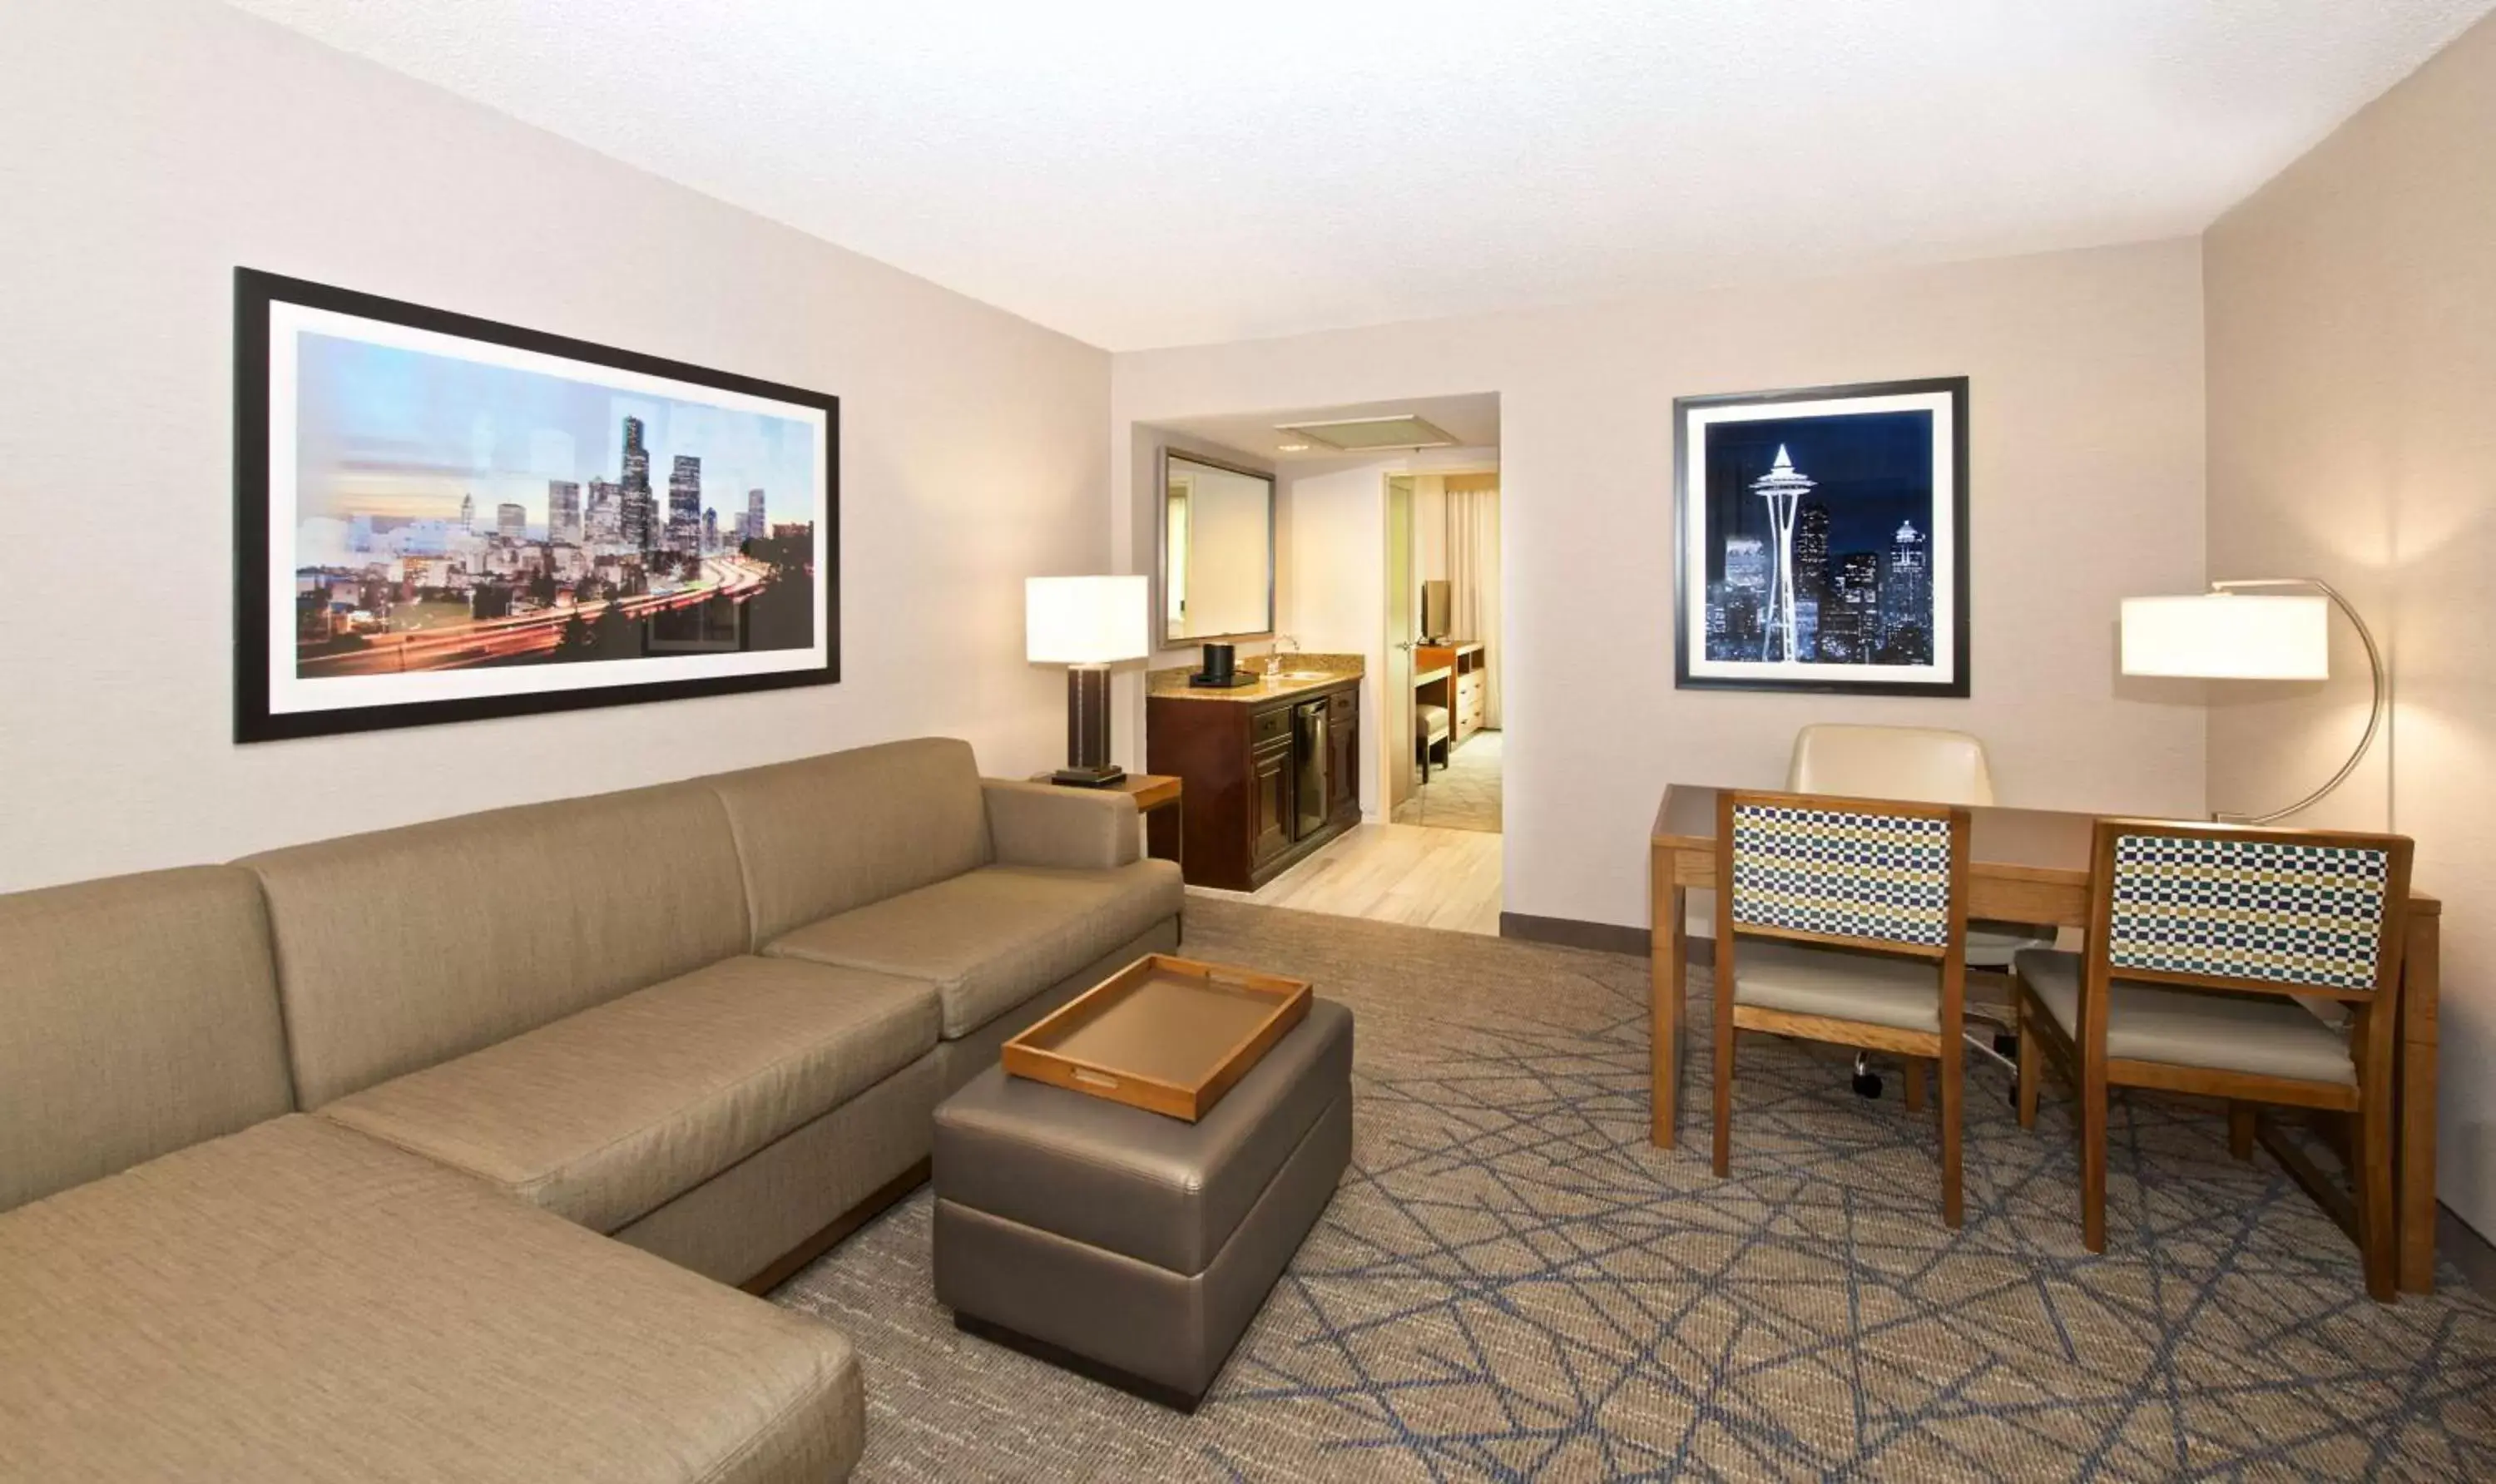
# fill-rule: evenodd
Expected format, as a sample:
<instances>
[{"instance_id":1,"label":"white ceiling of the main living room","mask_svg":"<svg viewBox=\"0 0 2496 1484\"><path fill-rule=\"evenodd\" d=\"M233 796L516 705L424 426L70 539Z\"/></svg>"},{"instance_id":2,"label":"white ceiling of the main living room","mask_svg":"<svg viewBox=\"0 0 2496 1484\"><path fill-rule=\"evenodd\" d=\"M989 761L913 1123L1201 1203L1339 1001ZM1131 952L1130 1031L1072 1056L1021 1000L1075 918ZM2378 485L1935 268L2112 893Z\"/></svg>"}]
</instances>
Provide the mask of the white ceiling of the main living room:
<instances>
[{"instance_id":1,"label":"white ceiling of the main living room","mask_svg":"<svg viewBox=\"0 0 2496 1484\"><path fill-rule=\"evenodd\" d=\"M2196 232L2496 5L235 2L1108 349Z\"/></svg>"}]
</instances>

